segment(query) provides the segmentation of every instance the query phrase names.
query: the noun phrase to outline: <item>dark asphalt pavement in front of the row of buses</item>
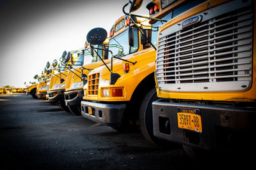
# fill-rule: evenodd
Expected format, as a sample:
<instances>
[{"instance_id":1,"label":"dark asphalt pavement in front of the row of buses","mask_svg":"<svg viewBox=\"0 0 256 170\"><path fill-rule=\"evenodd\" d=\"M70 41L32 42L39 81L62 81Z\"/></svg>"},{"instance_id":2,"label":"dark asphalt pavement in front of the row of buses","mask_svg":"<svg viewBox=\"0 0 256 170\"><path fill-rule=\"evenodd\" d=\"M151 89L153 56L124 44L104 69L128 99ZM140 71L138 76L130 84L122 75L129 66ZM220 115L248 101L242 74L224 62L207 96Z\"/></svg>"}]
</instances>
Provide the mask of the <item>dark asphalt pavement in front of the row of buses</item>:
<instances>
[{"instance_id":1,"label":"dark asphalt pavement in front of the row of buses","mask_svg":"<svg viewBox=\"0 0 256 170\"><path fill-rule=\"evenodd\" d=\"M227 162L203 164L180 145L158 148L140 131L121 133L25 94L0 95L0 152L1 169L205 169Z\"/></svg>"}]
</instances>

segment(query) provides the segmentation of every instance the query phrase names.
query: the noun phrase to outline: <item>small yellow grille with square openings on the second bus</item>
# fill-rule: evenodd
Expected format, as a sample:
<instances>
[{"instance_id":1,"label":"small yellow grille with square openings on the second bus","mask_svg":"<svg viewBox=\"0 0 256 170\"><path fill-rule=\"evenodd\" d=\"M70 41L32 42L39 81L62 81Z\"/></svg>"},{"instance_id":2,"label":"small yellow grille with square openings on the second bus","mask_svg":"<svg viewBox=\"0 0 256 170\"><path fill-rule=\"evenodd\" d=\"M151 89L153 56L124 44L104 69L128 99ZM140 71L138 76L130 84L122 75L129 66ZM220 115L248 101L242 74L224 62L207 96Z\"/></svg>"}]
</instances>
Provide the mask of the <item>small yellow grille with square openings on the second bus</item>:
<instances>
[{"instance_id":1,"label":"small yellow grille with square openings on the second bus","mask_svg":"<svg viewBox=\"0 0 256 170\"><path fill-rule=\"evenodd\" d=\"M99 73L88 76L88 95L97 95L99 88Z\"/></svg>"}]
</instances>

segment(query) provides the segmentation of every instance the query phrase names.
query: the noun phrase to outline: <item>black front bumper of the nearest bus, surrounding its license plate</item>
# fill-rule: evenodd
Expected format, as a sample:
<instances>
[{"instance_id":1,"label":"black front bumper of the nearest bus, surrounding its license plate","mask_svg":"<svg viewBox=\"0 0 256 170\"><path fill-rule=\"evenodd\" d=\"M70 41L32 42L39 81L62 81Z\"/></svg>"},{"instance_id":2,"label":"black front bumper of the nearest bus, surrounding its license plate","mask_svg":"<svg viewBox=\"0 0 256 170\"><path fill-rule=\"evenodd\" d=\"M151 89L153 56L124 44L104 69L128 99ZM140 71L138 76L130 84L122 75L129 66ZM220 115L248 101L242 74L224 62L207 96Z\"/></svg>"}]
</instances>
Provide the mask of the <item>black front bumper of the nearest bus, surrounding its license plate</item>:
<instances>
[{"instance_id":1,"label":"black front bumper of the nearest bus, surrounding its license plate","mask_svg":"<svg viewBox=\"0 0 256 170\"><path fill-rule=\"evenodd\" d=\"M200 111L202 132L178 127L178 108ZM216 150L246 143L253 138L255 108L231 108L204 104L183 104L159 99L152 103L154 136L175 143ZM166 123L167 122L167 123ZM235 144L235 145L236 145Z\"/></svg>"}]
</instances>

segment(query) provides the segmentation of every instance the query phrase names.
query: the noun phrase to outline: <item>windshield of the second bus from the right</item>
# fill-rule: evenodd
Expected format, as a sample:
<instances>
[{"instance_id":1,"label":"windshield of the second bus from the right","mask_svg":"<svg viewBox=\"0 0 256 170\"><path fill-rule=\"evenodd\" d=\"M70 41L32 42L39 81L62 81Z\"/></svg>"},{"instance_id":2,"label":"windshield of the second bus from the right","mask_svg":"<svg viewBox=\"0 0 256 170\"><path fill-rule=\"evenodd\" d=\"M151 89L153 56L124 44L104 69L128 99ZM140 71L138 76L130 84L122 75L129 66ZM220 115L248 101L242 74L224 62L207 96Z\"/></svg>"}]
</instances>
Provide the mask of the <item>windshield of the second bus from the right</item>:
<instances>
[{"instance_id":1,"label":"windshield of the second bus from the right","mask_svg":"<svg viewBox=\"0 0 256 170\"><path fill-rule=\"evenodd\" d=\"M129 53L136 52L138 45L138 30L134 27L134 46L129 46L128 29L109 40L109 50L115 57L123 57Z\"/></svg>"}]
</instances>

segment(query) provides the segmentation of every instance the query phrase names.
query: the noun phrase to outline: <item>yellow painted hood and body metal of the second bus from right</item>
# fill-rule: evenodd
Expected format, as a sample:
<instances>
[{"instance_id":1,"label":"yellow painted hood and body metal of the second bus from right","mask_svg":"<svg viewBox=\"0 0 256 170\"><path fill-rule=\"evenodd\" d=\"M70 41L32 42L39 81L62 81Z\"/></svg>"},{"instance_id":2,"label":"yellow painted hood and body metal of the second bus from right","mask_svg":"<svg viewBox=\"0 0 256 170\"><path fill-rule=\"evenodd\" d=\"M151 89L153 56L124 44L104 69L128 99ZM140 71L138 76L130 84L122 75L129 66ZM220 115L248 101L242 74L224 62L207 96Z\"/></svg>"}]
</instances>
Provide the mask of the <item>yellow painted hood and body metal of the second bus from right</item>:
<instances>
[{"instance_id":1,"label":"yellow painted hood and body metal of the second bus from right","mask_svg":"<svg viewBox=\"0 0 256 170\"><path fill-rule=\"evenodd\" d=\"M118 24L120 21L124 20L124 17L120 17L114 24ZM113 26L113 27L114 27ZM112 38L118 36L121 32L124 32L128 27L124 27L115 31ZM99 73L99 85L97 88L97 94L88 94L88 83L84 85L84 100L90 101L130 101L134 90L139 85L139 83L146 78L149 74L154 73L155 70L155 60L156 60L156 50L153 47L146 48L143 50L143 45L141 45L141 34L138 33L139 48L137 52L125 55L122 59L129 60L131 62L136 62L132 64L124 60L113 59L113 73L118 73L120 78L116 81L115 85L110 85L110 71L106 66L98 67L90 72L90 75ZM123 64L129 64L129 71L125 73L123 70ZM111 67L111 63L108 64ZM109 89L109 96L103 96L103 89ZM112 89L122 89L122 96L113 97Z\"/></svg>"}]
</instances>

